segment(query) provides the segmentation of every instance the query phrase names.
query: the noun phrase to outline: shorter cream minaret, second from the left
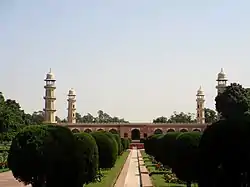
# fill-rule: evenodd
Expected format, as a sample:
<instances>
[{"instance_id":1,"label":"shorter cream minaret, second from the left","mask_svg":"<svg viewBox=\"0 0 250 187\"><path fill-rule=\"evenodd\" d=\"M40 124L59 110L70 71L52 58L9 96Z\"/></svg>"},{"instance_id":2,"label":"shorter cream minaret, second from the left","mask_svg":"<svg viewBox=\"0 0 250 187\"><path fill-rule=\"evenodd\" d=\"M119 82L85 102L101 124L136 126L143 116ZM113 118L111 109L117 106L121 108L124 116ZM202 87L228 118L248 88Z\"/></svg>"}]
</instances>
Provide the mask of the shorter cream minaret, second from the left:
<instances>
[{"instance_id":1,"label":"shorter cream minaret, second from the left","mask_svg":"<svg viewBox=\"0 0 250 187\"><path fill-rule=\"evenodd\" d=\"M73 88L68 94L68 123L76 123L76 93Z\"/></svg>"}]
</instances>

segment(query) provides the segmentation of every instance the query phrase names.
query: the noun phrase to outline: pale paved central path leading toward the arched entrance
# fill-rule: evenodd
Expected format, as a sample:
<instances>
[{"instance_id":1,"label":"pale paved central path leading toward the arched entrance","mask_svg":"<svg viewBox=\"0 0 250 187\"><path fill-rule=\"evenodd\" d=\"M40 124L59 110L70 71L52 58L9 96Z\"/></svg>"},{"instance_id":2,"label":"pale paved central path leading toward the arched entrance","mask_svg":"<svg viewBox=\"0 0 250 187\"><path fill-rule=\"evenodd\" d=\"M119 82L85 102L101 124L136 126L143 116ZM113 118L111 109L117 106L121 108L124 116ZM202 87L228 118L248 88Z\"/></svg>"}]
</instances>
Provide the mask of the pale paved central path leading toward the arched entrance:
<instances>
[{"instance_id":1,"label":"pale paved central path leading toward the arched entrance","mask_svg":"<svg viewBox=\"0 0 250 187\"><path fill-rule=\"evenodd\" d=\"M114 187L140 187L137 149L132 149Z\"/></svg>"}]
</instances>

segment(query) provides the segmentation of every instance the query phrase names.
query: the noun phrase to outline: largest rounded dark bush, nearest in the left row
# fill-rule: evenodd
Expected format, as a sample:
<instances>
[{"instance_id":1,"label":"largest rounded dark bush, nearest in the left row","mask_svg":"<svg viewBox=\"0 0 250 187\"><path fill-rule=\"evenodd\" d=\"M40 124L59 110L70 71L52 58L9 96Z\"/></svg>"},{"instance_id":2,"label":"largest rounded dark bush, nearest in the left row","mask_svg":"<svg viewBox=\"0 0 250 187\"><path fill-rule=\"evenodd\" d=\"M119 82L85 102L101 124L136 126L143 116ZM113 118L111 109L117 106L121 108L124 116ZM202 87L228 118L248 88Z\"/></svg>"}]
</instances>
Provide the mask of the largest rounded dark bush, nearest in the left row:
<instances>
[{"instance_id":1,"label":"largest rounded dark bush, nearest in the left row","mask_svg":"<svg viewBox=\"0 0 250 187\"><path fill-rule=\"evenodd\" d=\"M27 126L13 139L8 166L24 184L76 186L79 167L75 137L66 127Z\"/></svg>"}]
</instances>

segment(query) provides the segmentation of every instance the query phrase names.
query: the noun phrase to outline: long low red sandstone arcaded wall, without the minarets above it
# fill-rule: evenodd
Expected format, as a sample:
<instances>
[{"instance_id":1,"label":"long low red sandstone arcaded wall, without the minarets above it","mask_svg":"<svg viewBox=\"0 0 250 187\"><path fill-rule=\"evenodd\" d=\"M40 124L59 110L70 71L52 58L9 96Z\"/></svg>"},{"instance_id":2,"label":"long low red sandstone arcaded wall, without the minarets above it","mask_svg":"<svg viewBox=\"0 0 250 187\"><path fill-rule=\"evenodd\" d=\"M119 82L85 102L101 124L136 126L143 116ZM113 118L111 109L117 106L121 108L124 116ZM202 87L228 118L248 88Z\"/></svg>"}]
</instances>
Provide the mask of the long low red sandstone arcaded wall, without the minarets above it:
<instances>
[{"instance_id":1,"label":"long low red sandstone arcaded wall, without the minarets above it","mask_svg":"<svg viewBox=\"0 0 250 187\"><path fill-rule=\"evenodd\" d=\"M148 137L157 132L169 133L169 132L203 132L209 124L198 123L75 123L65 124L59 123L59 125L66 125L71 130L78 129L79 131L85 131L86 129L93 131L112 131L120 134L121 137L132 138L132 134L140 135L140 138ZM136 129L136 130L135 130ZM89 131L88 130L88 131ZM137 137L138 138L138 137Z\"/></svg>"}]
</instances>

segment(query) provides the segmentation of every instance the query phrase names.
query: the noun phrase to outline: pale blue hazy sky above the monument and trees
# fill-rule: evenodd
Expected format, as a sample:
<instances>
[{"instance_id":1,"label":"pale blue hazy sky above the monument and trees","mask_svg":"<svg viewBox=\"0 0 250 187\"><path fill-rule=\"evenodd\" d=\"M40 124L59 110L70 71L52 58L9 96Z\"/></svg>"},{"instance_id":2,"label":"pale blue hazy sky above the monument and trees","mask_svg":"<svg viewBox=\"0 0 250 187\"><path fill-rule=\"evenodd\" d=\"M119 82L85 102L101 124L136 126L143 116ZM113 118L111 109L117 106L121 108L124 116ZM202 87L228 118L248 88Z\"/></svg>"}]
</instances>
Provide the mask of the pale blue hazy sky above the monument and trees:
<instances>
[{"instance_id":1,"label":"pale blue hazy sky above the monument and trees","mask_svg":"<svg viewBox=\"0 0 250 187\"><path fill-rule=\"evenodd\" d=\"M44 78L56 76L56 109L98 110L130 122L196 112L196 92L214 109L221 68L249 87L248 0L1 0L0 91L25 112L44 108Z\"/></svg>"}]
</instances>

